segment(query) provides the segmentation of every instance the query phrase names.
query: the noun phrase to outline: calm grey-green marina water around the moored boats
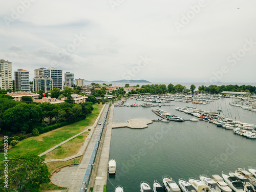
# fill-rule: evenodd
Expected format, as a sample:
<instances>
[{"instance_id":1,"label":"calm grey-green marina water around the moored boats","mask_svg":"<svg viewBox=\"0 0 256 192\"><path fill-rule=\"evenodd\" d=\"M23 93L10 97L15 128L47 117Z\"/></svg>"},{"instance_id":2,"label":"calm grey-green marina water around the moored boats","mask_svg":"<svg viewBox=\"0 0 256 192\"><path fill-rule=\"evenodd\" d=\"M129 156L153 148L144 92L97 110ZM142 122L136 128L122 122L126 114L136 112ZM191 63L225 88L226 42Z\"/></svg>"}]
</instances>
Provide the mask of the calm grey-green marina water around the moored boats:
<instances>
[{"instance_id":1,"label":"calm grey-green marina water around the moored boats","mask_svg":"<svg viewBox=\"0 0 256 192\"><path fill-rule=\"evenodd\" d=\"M256 113L243 110L228 103L232 99L221 98L198 109L216 111L222 106L226 116L237 117L247 123L256 124ZM127 100L126 103L142 103ZM196 106L192 103L170 102L175 106L161 109L182 118L191 118L176 111L178 106ZM151 110L156 108L119 108L114 110L114 123L127 122L133 118L158 119ZM229 113L228 113L228 112ZM208 126L208 127L207 127ZM154 122L143 130L120 128L112 130L110 159L117 162L116 174L108 179L108 192L114 186L122 185L124 191L140 191L140 182L147 181L153 186L154 180L162 184L162 176L169 175L176 182L205 174L221 175L239 167L256 166L256 140L235 135L231 130L215 124L197 122Z\"/></svg>"}]
</instances>

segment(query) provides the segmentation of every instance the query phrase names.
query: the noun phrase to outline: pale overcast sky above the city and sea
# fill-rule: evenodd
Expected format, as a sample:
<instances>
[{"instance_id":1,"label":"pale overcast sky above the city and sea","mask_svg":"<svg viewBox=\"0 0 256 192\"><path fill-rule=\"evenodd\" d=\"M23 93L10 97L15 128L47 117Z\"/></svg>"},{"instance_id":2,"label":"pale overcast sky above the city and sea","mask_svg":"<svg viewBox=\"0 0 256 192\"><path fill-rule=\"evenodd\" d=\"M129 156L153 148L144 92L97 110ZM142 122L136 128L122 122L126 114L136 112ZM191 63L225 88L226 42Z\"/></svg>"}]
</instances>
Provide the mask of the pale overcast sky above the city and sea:
<instances>
[{"instance_id":1,"label":"pale overcast sky above the city and sea","mask_svg":"<svg viewBox=\"0 0 256 192\"><path fill-rule=\"evenodd\" d=\"M0 59L31 80L53 67L86 80L255 82L255 0L0 4Z\"/></svg>"}]
</instances>

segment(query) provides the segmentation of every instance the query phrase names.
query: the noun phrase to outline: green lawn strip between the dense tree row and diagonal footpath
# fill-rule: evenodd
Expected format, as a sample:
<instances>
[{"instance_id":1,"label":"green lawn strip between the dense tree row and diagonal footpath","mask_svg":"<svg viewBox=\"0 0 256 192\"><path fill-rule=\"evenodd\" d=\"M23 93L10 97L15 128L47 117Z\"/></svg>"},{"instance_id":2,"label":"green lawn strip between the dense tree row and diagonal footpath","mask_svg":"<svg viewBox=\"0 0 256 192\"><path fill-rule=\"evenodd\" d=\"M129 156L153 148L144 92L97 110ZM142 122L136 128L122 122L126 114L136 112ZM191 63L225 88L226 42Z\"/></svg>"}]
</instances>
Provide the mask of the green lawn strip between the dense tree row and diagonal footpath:
<instances>
[{"instance_id":1,"label":"green lawn strip between the dense tree row and diagonal footpath","mask_svg":"<svg viewBox=\"0 0 256 192\"><path fill-rule=\"evenodd\" d=\"M94 104L94 110L89 114L86 119L78 121L67 126L60 127L59 129L41 134L37 137L30 137L20 141L15 147L8 150L8 157L13 155L33 154L39 155L56 144L69 139L70 137L81 132L84 127L92 126L95 122L103 105ZM0 161L4 160L3 152L0 153Z\"/></svg>"}]
</instances>

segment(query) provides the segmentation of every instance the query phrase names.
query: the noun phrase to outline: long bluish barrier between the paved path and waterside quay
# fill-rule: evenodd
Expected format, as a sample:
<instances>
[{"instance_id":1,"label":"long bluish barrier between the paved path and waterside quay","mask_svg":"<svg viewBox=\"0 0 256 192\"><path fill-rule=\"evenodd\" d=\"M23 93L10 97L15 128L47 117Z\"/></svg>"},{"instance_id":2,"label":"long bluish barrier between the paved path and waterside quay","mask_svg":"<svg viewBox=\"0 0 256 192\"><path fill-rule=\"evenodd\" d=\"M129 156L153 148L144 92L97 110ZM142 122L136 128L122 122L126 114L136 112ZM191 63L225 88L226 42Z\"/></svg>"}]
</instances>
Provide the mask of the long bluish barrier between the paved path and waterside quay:
<instances>
[{"instance_id":1,"label":"long bluish barrier between the paved path and waterside quay","mask_svg":"<svg viewBox=\"0 0 256 192\"><path fill-rule=\"evenodd\" d=\"M93 153L92 153L92 156L90 158L89 165L88 165L88 167L86 169L86 173L84 174L84 177L83 177L82 184L81 184L81 187L79 189L79 192L87 191L86 188L89 185L89 181L90 181L90 178L91 178L91 175L92 175L92 170L93 170L94 162L95 162L96 155L97 155L97 152L98 152L98 147L99 147L100 139L101 139L104 127L105 127L106 118L108 117L108 114L109 114L110 106L111 106L111 104L109 105L109 108L106 111L105 117L103 119L103 123L101 124L100 132L98 134L97 141L96 141L96 143L94 145Z\"/></svg>"}]
</instances>

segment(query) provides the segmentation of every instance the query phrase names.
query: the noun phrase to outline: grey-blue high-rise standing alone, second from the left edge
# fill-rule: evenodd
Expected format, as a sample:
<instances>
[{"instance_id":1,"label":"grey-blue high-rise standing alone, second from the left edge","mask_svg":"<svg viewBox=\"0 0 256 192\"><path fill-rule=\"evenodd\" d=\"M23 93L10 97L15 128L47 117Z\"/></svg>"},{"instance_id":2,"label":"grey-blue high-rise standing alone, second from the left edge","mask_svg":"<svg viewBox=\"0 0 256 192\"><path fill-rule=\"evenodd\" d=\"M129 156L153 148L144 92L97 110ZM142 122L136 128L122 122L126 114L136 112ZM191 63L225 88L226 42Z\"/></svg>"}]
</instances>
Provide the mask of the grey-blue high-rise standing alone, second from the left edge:
<instances>
[{"instance_id":1,"label":"grey-blue high-rise standing alone, second from the left edge","mask_svg":"<svg viewBox=\"0 0 256 192\"><path fill-rule=\"evenodd\" d=\"M29 71L24 69L18 69L17 71L14 71L14 78L15 89L30 91Z\"/></svg>"}]
</instances>

